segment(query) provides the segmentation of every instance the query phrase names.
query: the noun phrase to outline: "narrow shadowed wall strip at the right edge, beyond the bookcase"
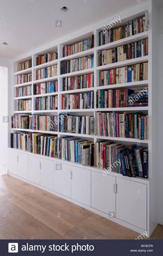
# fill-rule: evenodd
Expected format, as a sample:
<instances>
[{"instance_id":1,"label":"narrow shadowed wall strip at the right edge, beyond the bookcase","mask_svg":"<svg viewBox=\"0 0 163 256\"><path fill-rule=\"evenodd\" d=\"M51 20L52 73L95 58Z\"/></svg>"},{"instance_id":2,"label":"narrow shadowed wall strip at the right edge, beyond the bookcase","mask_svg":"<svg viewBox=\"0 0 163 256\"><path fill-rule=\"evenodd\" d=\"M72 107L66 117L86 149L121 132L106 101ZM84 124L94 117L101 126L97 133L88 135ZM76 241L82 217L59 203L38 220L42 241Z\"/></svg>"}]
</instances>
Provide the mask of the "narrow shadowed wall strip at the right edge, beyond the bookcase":
<instances>
[{"instance_id":1,"label":"narrow shadowed wall strip at the right edge, beyond the bookcase","mask_svg":"<svg viewBox=\"0 0 163 256\"><path fill-rule=\"evenodd\" d=\"M160 9L158 38L158 222L163 225L163 8ZM155 84L153 84L155 86Z\"/></svg>"}]
</instances>

